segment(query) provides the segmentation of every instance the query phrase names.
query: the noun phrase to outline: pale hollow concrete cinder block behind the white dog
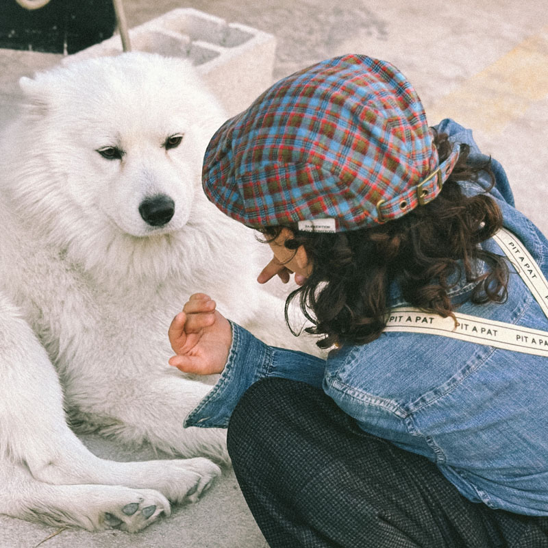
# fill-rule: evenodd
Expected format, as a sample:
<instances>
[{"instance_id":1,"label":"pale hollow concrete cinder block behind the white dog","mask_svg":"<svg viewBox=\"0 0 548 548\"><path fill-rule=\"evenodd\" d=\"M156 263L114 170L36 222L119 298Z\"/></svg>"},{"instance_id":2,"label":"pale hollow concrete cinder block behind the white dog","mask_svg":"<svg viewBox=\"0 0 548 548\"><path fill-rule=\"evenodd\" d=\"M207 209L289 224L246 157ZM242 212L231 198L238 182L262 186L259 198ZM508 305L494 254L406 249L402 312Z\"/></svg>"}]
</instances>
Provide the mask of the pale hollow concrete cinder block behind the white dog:
<instances>
[{"instance_id":1,"label":"pale hollow concrete cinder block behind the white dog","mask_svg":"<svg viewBox=\"0 0 548 548\"><path fill-rule=\"evenodd\" d=\"M129 38L134 51L190 59L229 116L247 108L272 84L274 36L199 10L167 12L130 29ZM112 36L63 62L121 52L120 37Z\"/></svg>"}]
</instances>

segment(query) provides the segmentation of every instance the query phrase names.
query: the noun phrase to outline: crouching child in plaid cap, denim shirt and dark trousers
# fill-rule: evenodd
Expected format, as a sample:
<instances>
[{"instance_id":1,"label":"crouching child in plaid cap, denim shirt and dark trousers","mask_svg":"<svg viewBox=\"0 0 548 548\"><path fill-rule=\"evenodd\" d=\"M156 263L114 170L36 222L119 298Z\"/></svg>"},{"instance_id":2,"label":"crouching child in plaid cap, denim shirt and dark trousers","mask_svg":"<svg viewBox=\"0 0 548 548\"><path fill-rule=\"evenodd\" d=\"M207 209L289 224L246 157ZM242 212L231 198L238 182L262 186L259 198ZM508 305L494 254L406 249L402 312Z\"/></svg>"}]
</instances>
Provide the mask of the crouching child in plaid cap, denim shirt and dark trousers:
<instances>
[{"instance_id":1,"label":"crouching child in plaid cap, denim shirt and dark trousers","mask_svg":"<svg viewBox=\"0 0 548 548\"><path fill-rule=\"evenodd\" d=\"M170 327L171 365L221 373L186 425L228 426L271 548L548 547L548 242L471 132L347 55L227 121L203 188L331 349L268 347L203 294Z\"/></svg>"}]
</instances>

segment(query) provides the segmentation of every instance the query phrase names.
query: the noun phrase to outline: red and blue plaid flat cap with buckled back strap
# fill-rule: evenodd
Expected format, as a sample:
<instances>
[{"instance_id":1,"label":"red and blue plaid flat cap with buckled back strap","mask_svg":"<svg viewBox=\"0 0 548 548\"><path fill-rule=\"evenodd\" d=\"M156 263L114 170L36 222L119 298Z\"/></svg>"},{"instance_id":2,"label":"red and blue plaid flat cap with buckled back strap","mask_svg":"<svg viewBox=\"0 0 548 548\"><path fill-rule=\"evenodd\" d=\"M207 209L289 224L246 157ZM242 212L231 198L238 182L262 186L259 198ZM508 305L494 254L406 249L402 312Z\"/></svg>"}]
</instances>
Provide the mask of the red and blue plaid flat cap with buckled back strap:
<instances>
[{"instance_id":1,"label":"red and blue plaid flat cap with buckled back strap","mask_svg":"<svg viewBox=\"0 0 548 548\"><path fill-rule=\"evenodd\" d=\"M314 64L266 90L212 137L202 184L249 227L339 232L434 199L439 165L423 105L393 65L364 55Z\"/></svg>"}]
</instances>

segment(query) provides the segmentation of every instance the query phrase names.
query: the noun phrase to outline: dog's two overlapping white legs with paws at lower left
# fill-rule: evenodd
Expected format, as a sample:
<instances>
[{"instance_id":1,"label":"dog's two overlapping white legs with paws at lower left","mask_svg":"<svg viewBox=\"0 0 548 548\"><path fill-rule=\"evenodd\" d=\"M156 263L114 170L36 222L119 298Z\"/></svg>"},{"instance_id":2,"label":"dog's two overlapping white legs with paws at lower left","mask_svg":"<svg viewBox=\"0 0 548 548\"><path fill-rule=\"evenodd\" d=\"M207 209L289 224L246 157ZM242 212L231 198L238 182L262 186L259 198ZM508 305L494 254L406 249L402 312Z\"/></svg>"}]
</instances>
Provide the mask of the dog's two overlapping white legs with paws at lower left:
<instances>
[{"instance_id":1,"label":"dog's two overlapping white legs with paws at lower left","mask_svg":"<svg viewBox=\"0 0 548 548\"><path fill-rule=\"evenodd\" d=\"M66 424L62 389L45 349L0 293L0 512L90 530L137 531L167 498L195 500L220 470L205 458L113 462Z\"/></svg>"}]
</instances>

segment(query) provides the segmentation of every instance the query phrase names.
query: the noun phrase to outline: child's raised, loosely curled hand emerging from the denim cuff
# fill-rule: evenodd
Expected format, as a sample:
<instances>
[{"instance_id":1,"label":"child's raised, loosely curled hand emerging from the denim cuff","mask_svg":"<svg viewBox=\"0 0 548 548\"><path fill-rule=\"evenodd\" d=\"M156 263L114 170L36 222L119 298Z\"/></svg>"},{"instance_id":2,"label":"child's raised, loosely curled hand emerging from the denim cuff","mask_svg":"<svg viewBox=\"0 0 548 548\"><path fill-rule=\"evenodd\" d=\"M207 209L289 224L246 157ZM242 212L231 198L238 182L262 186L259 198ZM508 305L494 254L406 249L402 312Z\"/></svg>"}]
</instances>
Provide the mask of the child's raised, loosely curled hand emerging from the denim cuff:
<instances>
[{"instance_id":1,"label":"child's raised, loosely curled hand emerging from the denim cuff","mask_svg":"<svg viewBox=\"0 0 548 548\"><path fill-rule=\"evenodd\" d=\"M232 328L204 293L191 295L169 326L169 342L177 354L169 364L184 373L212 375L225 369Z\"/></svg>"}]
</instances>

